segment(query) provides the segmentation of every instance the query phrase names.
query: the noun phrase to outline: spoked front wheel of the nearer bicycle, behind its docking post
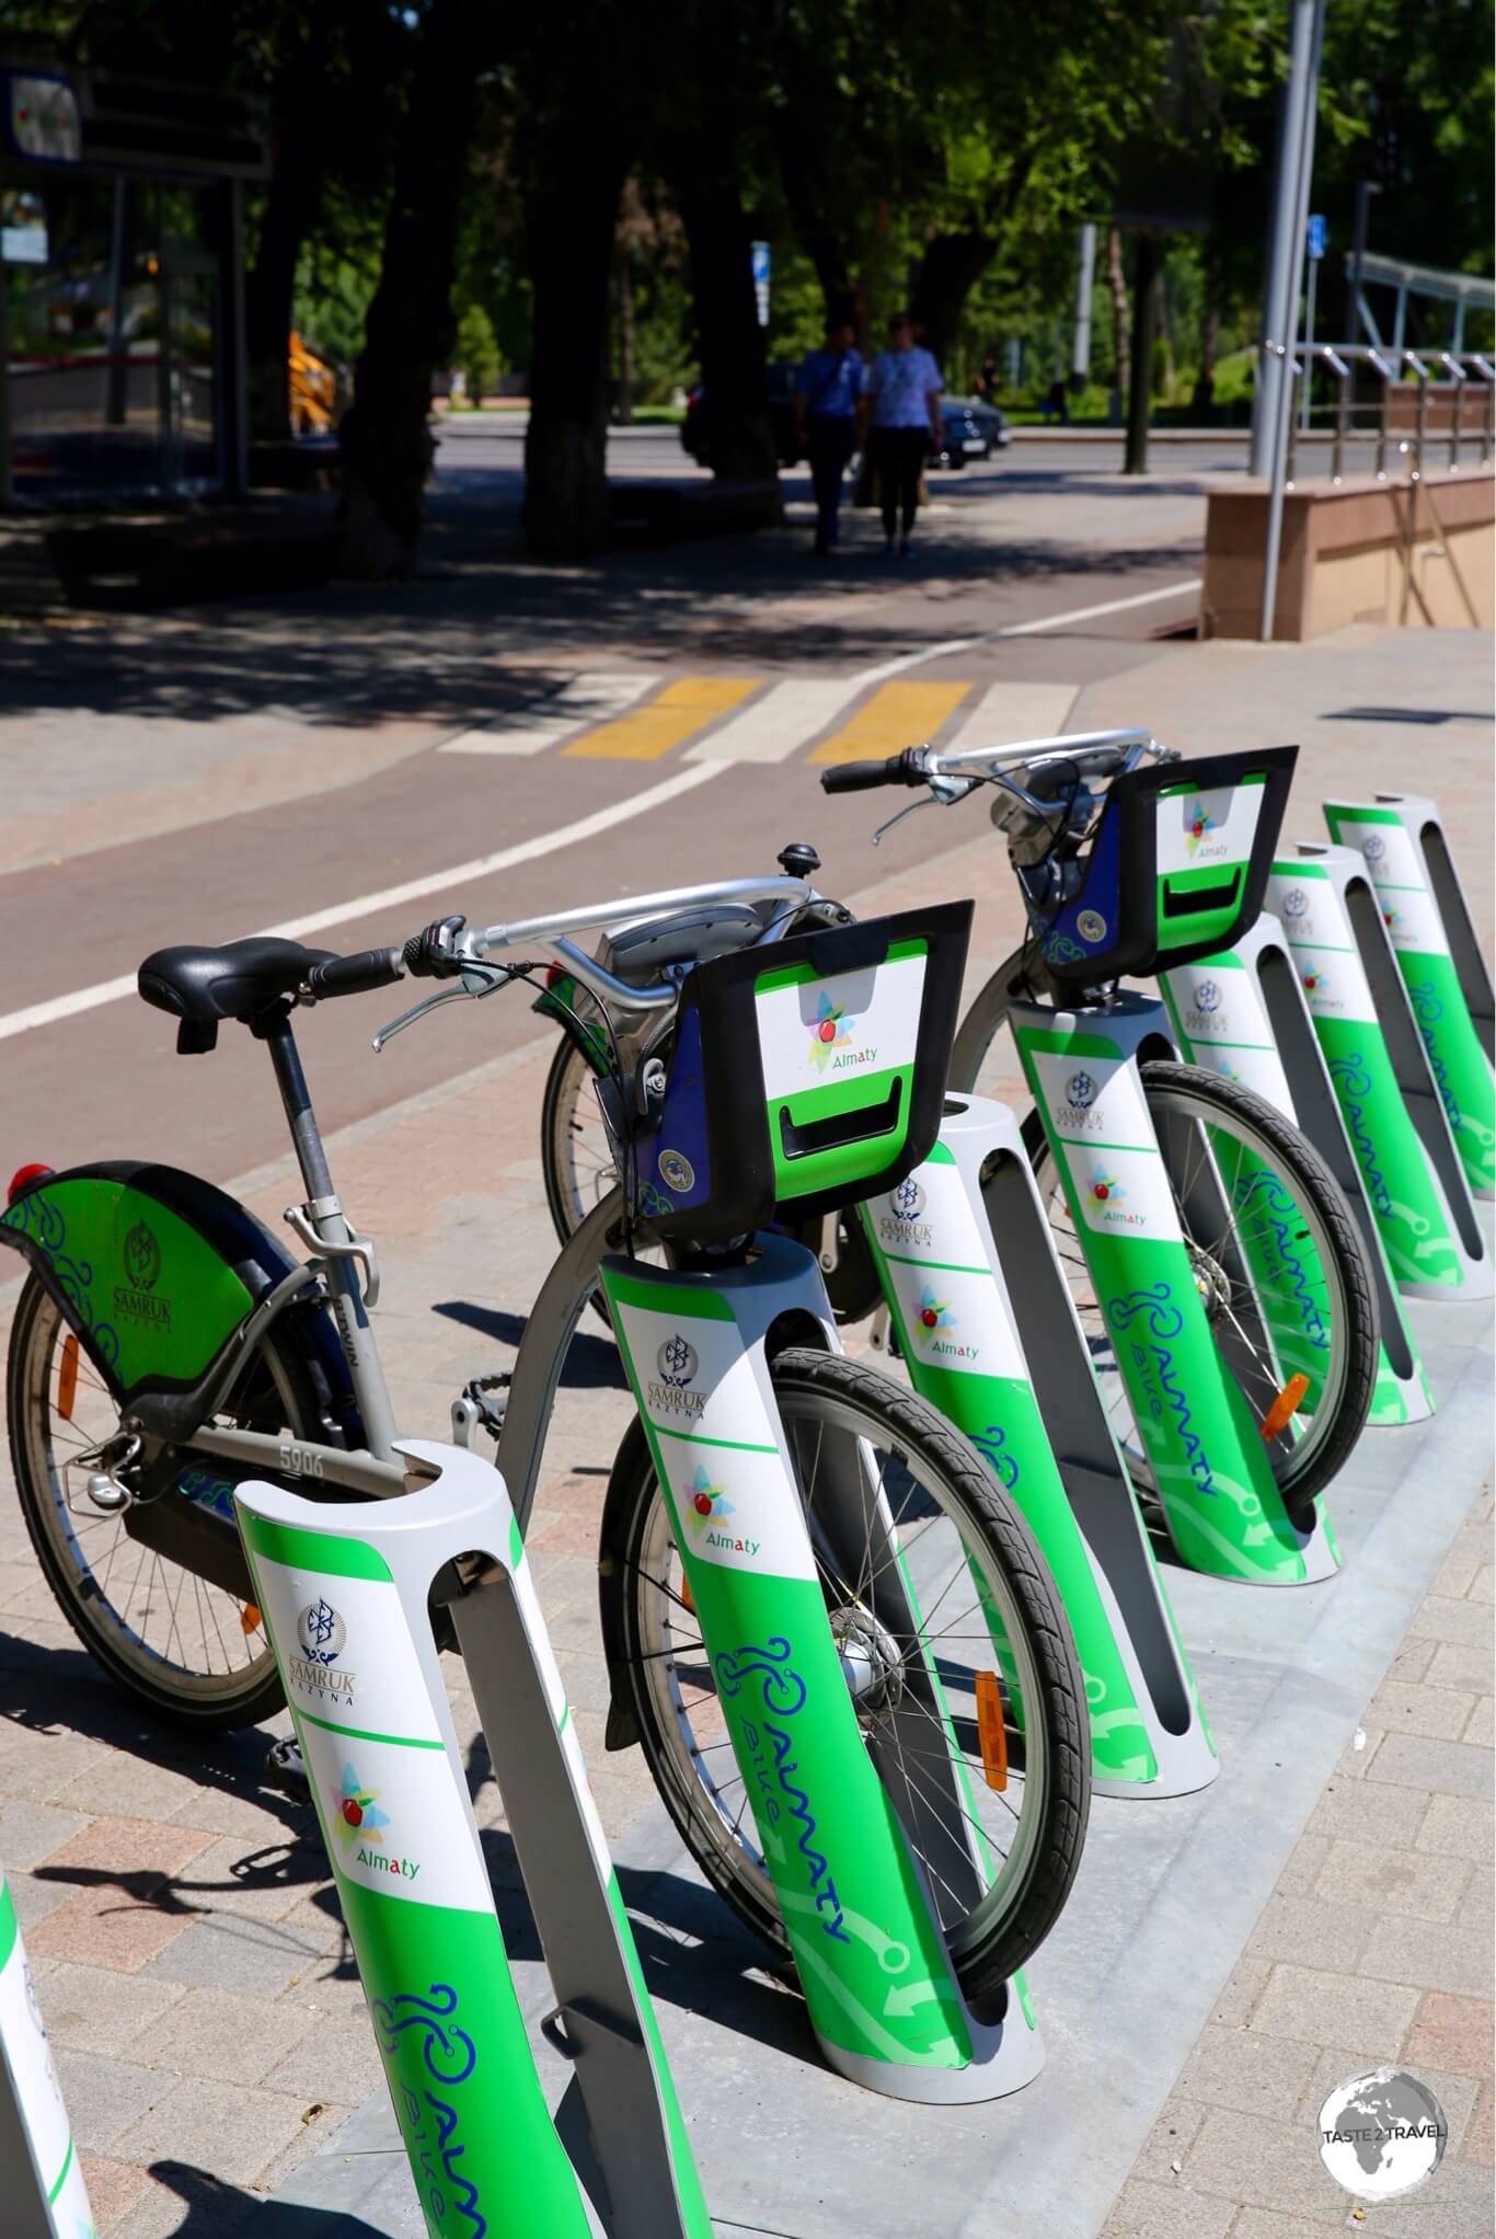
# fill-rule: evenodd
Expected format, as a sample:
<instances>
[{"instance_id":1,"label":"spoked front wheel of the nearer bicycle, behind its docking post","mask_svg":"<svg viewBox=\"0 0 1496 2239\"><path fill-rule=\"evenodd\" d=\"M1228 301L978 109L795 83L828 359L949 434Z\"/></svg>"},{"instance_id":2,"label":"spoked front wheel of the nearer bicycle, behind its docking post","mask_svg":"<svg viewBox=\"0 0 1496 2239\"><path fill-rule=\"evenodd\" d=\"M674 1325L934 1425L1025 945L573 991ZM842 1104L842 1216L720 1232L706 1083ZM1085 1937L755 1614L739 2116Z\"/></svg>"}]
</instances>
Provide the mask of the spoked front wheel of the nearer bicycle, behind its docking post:
<instances>
[{"instance_id":1,"label":"spoked front wheel of the nearer bicycle, behind its docking post","mask_svg":"<svg viewBox=\"0 0 1496 2239\"><path fill-rule=\"evenodd\" d=\"M869 1758L898 1809L898 1784L925 1767L954 1771L976 1901L911 1847L967 1997L997 1990L1055 1926L1079 1865L1091 1800L1086 1695L1070 1634L1028 1525L976 1453L923 1399L842 1355L793 1350L773 1364L826 1621L838 1641ZM831 1487L862 1484L864 1545L847 1545L847 1502L829 1527ZM703 1874L757 1934L788 1955L748 1789L726 1733L670 1511L638 1422L614 1464L625 1505L627 1686L654 1782ZM882 1507L880 1502L887 1502ZM914 1630L885 1623L876 1574L887 1516L918 1608ZM911 1699L934 1702L916 1722ZM988 1720L983 1749L979 1702ZM1001 1702L1001 1742L992 1706ZM891 1744L891 1711L905 1737ZM943 1706L945 1715L938 1715ZM916 1762L920 1760L920 1762ZM1001 1773L997 1769L1001 1764ZM905 1820L907 1825L907 1820ZM950 1863L950 1861L947 1861Z\"/></svg>"}]
</instances>

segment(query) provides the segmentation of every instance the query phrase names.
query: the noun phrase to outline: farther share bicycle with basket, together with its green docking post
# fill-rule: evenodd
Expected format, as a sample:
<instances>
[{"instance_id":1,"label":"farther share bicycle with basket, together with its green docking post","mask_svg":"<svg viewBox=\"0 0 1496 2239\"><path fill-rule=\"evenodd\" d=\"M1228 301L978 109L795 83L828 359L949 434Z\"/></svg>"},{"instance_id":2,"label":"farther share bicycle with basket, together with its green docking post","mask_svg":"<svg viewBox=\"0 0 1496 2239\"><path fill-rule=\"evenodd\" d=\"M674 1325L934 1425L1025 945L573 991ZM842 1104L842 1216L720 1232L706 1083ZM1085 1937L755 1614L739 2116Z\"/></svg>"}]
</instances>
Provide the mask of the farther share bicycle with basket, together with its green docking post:
<instances>
[{"instance_id":1,"label":"farther share bicycle with basket, together with its green docking post","mask_svg":"<svg viewBox=\"0 0 1496 2239\"><path fill-rule=\"evenodd\" d=\"M1259 1585L1339 1567L1317 1493L1375 1386L1366 1245L1306 1137L1178 1066L1165 1005L1118 983L1256 920L1294 757L1185 761L1113 730L822 775L826 790L925 786L943 806L994 788L1030 938L972 1003L952 1079L1001 1077L1012 1034L1035 1099L1023 1133L1133 1478L1187 1565Z\"/></svg>"}]
</instances>

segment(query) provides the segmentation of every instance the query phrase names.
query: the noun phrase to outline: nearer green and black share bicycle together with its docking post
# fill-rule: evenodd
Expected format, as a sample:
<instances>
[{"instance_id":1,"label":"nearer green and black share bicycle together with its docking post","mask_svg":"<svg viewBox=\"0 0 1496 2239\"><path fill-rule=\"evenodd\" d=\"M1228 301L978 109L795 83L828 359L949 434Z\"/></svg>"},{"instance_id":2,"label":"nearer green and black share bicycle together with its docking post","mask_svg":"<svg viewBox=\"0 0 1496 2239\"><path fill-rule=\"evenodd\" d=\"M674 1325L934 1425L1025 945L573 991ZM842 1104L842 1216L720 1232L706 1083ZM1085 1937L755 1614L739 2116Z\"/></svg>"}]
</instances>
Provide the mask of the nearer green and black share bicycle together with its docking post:
<instances>
[{"instance_id":1,"label":"nearer green and black share bicycle together with its docking post","mask_svg":"<svg viewBox=\"0 0 1496 2239\"><path fill-rule=\"evenodd\" d=\"M775 1207L824 1214L894 1187L929 1149L970 905L791 936L808 900L786 875L464 936L448 922L354 958L280 940L148 958L141 992L179 1017L181 1050L211 1050L224 1021L267 1043L307 1189L287 1218L309 1261L172 1169L31 1173L0 1220L31 1263L11 1339L16 1478L45 1574L114 1677L204 1729L273 1711L235 1484L387 1498L410 1473L367 1321L374 1247L334 1191L293 1008L403 969L448 978L401 1028L531 978L533 958L564 963L602 1005L638 1003L573 931L768 905L757 947L692 974L696 1039L681 1037L670 1066L611 1052L627 1187L535 1301L497 1460L522 1531L564 1352L600 1281L641 1411L609 1514L634 1545L665 1529L676 1549L679 1572L652 1592L694 1650L694 1690L719 1708L699 1755L730 1753L741 1787L732 1802L717 1778L692 1784L692 1847L739 1914L793 1952L833 2064L911 2098L990 2096L1039 2064L1012 1979L1059 1914L1084 1838L1073 1650L1021 1516L979 1455L840 1357L802 1247L752 1238ZM643 996L674 1010L681 990L661 976ZM880 1050L833 1090L808 1057L822 1005L871 1019ZM649 1234L670 1238L676 1267L638 1258ZM488 1395L470 1395L464 1426L484 1408ZM681 1661L674 1686L690 1684Z\"/></svg>"}]
</instances>

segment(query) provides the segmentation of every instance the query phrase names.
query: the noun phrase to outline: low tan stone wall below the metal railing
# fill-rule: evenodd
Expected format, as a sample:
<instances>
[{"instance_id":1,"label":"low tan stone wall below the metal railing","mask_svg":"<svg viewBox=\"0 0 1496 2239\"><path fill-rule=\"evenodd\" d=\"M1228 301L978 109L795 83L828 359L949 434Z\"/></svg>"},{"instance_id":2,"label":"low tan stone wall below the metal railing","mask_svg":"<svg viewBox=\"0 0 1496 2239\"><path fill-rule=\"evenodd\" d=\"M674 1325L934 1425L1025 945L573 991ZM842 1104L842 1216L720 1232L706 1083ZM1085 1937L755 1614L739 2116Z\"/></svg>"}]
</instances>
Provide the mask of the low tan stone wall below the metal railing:
<instances>
[{"instance_id":1,"label":"low tan stone wall below the metal railing","mask_svg":"<svg viewBox=\"0 0 1496 2239\"><path fill-rule=\"evenodd\" d=\"M1418 486L1357 477L1290 490L1274 638L1317 638L1346 622L1492 629L1494 524L1489 468L1431 472ZM1259 636L1265 542L1265 484L1209 493L1200 636Z\"/></svg>"}]
</instances>

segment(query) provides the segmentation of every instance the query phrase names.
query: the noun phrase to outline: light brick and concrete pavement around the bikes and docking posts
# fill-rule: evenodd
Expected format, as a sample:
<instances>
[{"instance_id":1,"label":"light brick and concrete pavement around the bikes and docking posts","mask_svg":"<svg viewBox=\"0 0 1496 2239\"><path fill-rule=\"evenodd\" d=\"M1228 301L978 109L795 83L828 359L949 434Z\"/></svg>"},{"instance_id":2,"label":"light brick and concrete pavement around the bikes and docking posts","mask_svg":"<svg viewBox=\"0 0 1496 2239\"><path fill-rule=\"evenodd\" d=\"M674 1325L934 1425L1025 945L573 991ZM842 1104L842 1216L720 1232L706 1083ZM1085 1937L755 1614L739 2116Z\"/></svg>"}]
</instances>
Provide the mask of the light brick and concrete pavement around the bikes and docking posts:
<instances>
[{"instance_id":1,"label":"light brick and concrete pavement around the bikes and docking posts","mask_svg":"<svg viewBox=\"0 0 1496 2239\"><path fill-rule=\"evenodd\" d=\"M1489 817L1487 741L1476 721L1460 719L1489 696L1480 661L1465 638L1431 645L1415 634L1391 640L1391 652L1380 634L1274 652L1198 647L1088 685L1070 725L1147 712L1180 746L1238 743L1243 732L1261 739L1265 728L1301 734L1303 835L1317 793L1330 784L1427 786L1451 824L1467 819L1462 860L1489 936L1489 851L1474 844ZM1424 730L1337 716L1371 699L1453 719ZM956 817L950 833L950 853L916 871L898 869L894 835L882 862L867 858L869 871L889 873L885 884L853 900L871 909L976 891L976 985L1017 931L1017 905L985 819ZM838 884L853 887L847 862L835 871ZM428 1028L452 1030L452 1014ZM481 1028L468 1048L481 1050ZM331 1144L345 1200L376 1229L385 1261L378 1337L394 1370L396 1417L428 1435L441 1435L466 1375L508 1361L495 1346L517 1339L549 1256L535 1149L549 1055L546 1034ZM316 1090L316 1021L307 1066ZM269 1079L262 1093L269 1097ZM278 1225L293 1196L289 1182L284 1160L228 1187ZM0 1321L13 1292L13 1283L0 1287ZM1480 1749L1483 1733L1489 1742L1489 1657L1480 1661L1489 1567L1469 1567L1460 1552L1474 1545L1474 1529L1489 1534L1489 1523L1462 1523L1489 1467L1474 1319L1418 1310L1440 1415L1424 1428L1366 1440L1357 1469L1337 1487L1353 1561L1333 1590L1243 1596L1169 1576L1221 1735L1223 1778L1203 1802L1097 1807L1077 1901L1035 1968L1046 2076L1008 2107L934 2125L925 2111L889 2111L824 2076L806 2053L797 1999L766 1984L755 1950L723 1930L721 1908L692 1892L638 1753L602 1751L596 1518L629 1406L611 1343L582 1330L555 1411L531 1549L593 1791L627 1867L629 1899L641 1905L641 1943L676 2076L701 2125L712 2199L737 2219L723 2228L806 2230L815 2239L842 2239L849 2228L864 2239L1091 2239L1126 2179L1118 2214L1142 2201L1138 2212L1174 2217L1133 2223L1138 2232L1303 2239L1324 2230L1335 2208L1312 2190L1319 2163L1303 2111L1312 2089L1328 2089L1319 2055L1339 2062L1330 2080L1341 2080L1362 2051L1386 2044L1429 2073L1458 2134L1440 2190L1368 2221L1391 2239L1489 2232L1489 2217L1431 2221L1444 2205L1469 2217L1471 2188L1483 2181L1480 2140L1489 2154L1489 2091L1476 2098L1471 2089L1471 2042L1489 2042L1489 2029L1478 2040L1480 2017L1469 2011L1489 1995L1489 1950L1476 1977L1480 1952L1467 1941L1478 1930L1492 1825L1474 1789L1476 1767L1485 1764L1489 1780ZM1449 1558L1447 1545L1456 1549ZM1431 1587L1422 1608L1420 1578ZM455 1664L450 1677L457 1731L470 1742L473 1706ZM1429 1720L1442 1724L1424 1731ZM1350 1753L1348 1771L1324 1796L1357 1722L1366 1749ZM399 2201L387 2217L374 2205L361 2205L361 2223L345 2214L354 2179L372 2203L378 2185L394 2183L399 2194L403 2170L390 2152L383 2080L316 1825L260 1784L267 1744L262 1731L188 1751L121 1708L38 1581L13 1496L0 1493L0 1858L103 2239L417 2230L401 2221ZM1409 1771L1415 1784L1400 1780ZM470 1773L526 2011L540 2013L544 1988L481 1746ZM1458 1787L1462 1778L1469 1789ZM1386 1879L1380 1847L1393 1854ZM1205 1910L1189 1903L1189 1876L1203 1867L1216 1876ZM1413 1881L1393 1887L1402 1872ZM1395 1901L1400 1890L1409 1912ZM1382 1926L1402 1919L1406 1930ZM1265 1941L1243 1957L1254 1937ZM1397 1973L1384 1973L1395 1964ZM1321 1982L1333 1988L1321 1990ZM1337 2026L1321 2020L1326 2008ZM1364 2037L1355 2033L1362 2013ZM1227 2035L1241 2042L1225 2046ZM1261 2100L1250 2096L1236 2109L1238 2085L1261 2085ZM1174 2138L1165 2120L1133 2167L1165 2098L1189 2111L1182 2123L1176 2116ZM1263 2154L1281 2143L1285 2158L1270 2163L1285 2172L1281 2194L1261 2199L1236 2183L1236 2111L1261 2114L1250 2134L1261 2132ZM1256 2152L1250 2134L1241 2132L1243 2154ZM847 2205L808 2174L820 2136L844 2143L838 2183ZM302 2167L318 2147L327 2152ZM1294 2163L1301 2179L1288 2174L1290 2152L1308 2156ZM988 2188L999 2181L1028 2203L1019 2221L992 2205ZM1088 2221L1066 2221L1066 2192ZM914 2219L900 2208L911 2196ZM1095 2208L1086 2205L1093 2196ZM791 2221L786 2201L795 2210L804 2203L804 2219L795 2212ZM1424 2212L1429 2221L1409 2221ZM900 2214L903 2223L889 2221ZM1339 2203L1341 2221L1346 2214ZM1115 2226L1118 2239L1126 2230Z\"/></svg>"}]
</instances>

